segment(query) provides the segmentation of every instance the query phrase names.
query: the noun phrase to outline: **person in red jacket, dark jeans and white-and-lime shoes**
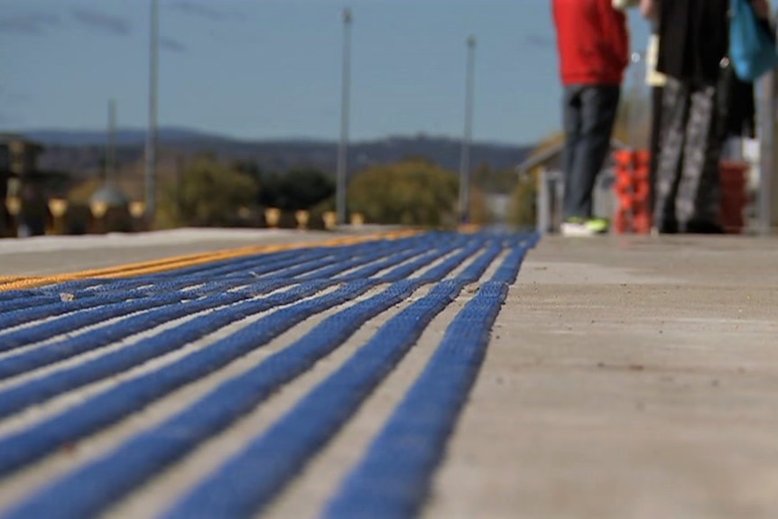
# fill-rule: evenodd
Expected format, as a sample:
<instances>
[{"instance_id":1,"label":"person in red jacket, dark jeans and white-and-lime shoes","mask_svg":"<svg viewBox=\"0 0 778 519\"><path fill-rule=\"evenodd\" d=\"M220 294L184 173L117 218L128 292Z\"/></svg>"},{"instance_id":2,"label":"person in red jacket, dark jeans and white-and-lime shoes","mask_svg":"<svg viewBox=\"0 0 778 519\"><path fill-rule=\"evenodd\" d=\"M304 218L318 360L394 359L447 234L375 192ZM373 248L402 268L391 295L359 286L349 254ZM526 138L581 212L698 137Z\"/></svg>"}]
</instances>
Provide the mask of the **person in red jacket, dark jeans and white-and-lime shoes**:
<instances>
[{"instance_id":1,"label":"person in red jacket, dark jeans and white-and-lime shoes","mask_svg":"<svg viewBox=\"0 0 778 519\"><path fill-rule=\"evenodd\" d=\"M552 0L564 88L564 236L606 233L592 193L610 150L621 84L629 62L625 14L613 0Z\"/></svg>"}]
</instances>

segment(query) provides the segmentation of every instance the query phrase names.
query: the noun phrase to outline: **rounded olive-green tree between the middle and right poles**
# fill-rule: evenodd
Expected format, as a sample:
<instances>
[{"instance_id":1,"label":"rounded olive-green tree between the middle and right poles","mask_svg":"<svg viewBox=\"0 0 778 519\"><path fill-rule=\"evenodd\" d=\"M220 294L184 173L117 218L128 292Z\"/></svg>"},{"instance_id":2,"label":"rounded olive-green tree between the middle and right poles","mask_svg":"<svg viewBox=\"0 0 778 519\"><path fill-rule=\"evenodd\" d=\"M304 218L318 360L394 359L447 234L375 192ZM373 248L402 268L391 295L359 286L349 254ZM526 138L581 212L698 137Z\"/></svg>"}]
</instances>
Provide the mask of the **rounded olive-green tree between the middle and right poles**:
<instances>
[{"instance_id":1,"label":"rounded olive-green tree between the middle and right poles","mask_svg":"<svg viewBox=\"0 0 778 519\"><path fill-rule=\"evenodd\" d=\"M457 199L457 174L419 158L372 166L348 185L349 209L378 224L451 224Z\"/></svg>"}]
</instances>

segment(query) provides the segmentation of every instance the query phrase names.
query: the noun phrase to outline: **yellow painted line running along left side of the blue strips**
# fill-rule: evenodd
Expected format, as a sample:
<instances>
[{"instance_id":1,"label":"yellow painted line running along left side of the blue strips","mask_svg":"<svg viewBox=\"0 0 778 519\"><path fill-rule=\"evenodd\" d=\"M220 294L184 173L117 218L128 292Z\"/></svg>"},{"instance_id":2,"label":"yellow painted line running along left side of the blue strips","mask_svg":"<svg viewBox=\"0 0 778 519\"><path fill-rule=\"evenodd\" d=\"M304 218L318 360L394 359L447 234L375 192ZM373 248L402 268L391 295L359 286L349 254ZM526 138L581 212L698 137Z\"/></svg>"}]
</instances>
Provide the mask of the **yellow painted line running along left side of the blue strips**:
<instances>
[{"instance_id":1,"label":"yellow painted line running along left side of the blue strips","mask_svg":"<svg viewBox=\"0 0 778 519\"><path fill-rule=\"evenodd\" d=\"M348 236L333 238L320 242L294 243L283 245L244 246L235 249L225 249L208 253L195 253L151 260L134 264L123 264L113 267L91 269L74 273L61 273L44 276L0 276L0 292L34 288L47 284L65 283L90 278L123 278L136 275L162 273L199 264L208 264L222 260L244 257L247 255L269 254L273 252L326 246L347 246L379 239L399 239L405 236L419 234L416 230L392 231L366 236Z\"/></svg>"}]
</instances>

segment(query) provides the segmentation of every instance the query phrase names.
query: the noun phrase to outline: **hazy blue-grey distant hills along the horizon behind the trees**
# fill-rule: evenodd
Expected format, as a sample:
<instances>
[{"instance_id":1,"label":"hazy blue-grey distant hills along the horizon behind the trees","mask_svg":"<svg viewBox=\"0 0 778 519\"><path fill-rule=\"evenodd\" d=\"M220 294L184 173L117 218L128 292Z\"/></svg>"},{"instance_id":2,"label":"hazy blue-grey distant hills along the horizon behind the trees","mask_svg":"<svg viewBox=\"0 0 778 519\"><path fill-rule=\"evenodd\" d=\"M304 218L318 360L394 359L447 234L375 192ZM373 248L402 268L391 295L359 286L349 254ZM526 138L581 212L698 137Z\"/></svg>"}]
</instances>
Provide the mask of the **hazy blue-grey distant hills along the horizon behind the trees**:
<instances>
[{"instance_id":1,"label":"hazy blue-grey distant hills along the horizon behind the trees","mask_svg":"<svg viewBox=\"0 0 778 519\"><path fill-rule=\"evenodd\" d=\"M88 177L99 171L105 157L105 131L42 129L19 132L46 146L41 158L45 170L68 171L74 177ZM159 133L161 162L174 163L196 153L216 153L227 161L258 163L266 171L288 171L310 166L335 173L338 143L306 139L245 141L185 128L163 127ZM146 134L143 129L116 132L116 157L121 169L138 170L144 160ZM488 164L493 170L513 168L526 158L533 146L474 143L470 148L473 168ZM427 135L388 137L353 142L348 146L349 172L372 164L396 162L408 156L425 157L458 171L461 144L458 139Z\"/></svg>"}]
</instances>

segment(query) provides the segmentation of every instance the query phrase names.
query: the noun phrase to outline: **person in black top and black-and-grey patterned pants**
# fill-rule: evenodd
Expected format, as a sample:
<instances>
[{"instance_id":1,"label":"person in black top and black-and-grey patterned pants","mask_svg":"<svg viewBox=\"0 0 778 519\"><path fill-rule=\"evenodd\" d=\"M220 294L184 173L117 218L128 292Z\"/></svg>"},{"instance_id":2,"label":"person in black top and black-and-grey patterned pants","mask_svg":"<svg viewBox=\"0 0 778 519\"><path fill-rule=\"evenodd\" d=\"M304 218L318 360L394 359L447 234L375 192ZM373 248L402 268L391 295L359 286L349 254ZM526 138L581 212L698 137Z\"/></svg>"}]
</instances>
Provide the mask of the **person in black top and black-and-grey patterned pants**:
<instances>
[{"instance_id":1,"label":"person in black top and black-and-grey patterned pants","mask_svg":"<svg viewBox=\"0 0 778 519\"><path fill-rule=\"evenodd\" d=\"M767 0L752 5L767 18ZM657 70L667 77L653 226L660 234L720 233L722 144L747 128L754 106L753 86L736 85L724 68L729 0L643 0L641 7L658 21Z\"/></svg>"}]
</instances>

